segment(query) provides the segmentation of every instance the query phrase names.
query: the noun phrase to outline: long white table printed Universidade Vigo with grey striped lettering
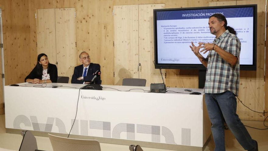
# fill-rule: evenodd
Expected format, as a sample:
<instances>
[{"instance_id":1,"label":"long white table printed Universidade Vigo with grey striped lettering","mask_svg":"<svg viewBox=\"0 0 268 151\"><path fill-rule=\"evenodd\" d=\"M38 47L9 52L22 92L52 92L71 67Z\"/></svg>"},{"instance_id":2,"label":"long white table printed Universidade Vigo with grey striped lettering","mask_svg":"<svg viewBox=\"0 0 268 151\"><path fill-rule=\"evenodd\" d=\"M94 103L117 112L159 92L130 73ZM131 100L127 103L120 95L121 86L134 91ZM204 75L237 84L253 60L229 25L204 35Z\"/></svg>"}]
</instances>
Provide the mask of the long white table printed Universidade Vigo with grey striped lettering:
<instances>
[{"instance_id":1,"label":"long white table printed Universidade Vigo with grey striped lettering","mask_svg":"<svg viewBox=\"0 0 268 151\"><path fill-rule=\"evenodd\" d=\"M49 83L43 88L33 87L41 84L19 85L4 89L5 124L10 131L61 133L67 137L79 98L72 136L90 136L100 142L124 145L202 150L211 134L203 89L193 89L201 95L189 95L183 94L189 93L183 88L148 93L143 90L150 87L102 85L102 91L79 92L85 84Z\"/></svg>"}]
</instances>

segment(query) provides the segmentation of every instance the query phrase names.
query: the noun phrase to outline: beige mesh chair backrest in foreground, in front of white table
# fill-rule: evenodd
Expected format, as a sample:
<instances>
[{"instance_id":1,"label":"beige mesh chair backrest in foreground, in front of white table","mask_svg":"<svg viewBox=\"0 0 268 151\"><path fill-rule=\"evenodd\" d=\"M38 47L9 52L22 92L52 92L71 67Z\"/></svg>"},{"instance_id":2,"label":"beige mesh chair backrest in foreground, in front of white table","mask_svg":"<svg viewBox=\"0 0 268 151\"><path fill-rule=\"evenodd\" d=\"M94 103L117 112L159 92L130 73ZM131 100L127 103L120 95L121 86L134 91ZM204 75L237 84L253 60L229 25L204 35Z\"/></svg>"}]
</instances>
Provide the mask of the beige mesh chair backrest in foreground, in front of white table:
<instances>
[{"instance_id":1,"label":"beige mesh chair backrest in foreground, in front of white table","mask_svg":"<svg viewBox=\"0 0 268 151\"><path fill-rule=\"evenodd\" d=\"M48 134L53 151L101 151L97 140L65 138Z\"/></svg>"}]
</instances>

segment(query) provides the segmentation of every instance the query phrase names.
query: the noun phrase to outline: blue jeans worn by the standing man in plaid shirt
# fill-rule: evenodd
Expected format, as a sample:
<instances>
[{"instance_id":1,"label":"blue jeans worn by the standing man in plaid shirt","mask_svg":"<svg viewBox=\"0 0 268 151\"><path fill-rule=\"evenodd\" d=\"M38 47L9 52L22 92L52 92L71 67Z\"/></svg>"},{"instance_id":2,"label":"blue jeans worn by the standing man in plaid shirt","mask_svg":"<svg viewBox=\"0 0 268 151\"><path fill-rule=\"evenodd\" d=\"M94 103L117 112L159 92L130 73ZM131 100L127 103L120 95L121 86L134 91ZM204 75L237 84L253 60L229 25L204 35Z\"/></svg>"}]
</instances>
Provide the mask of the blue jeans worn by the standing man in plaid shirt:
<instances>
[{"instance_id":1,"label":"blue jeans worn by the standing man in plaid shirt","mask_svg":"<svg viewBox=\"0 0 268 151\"><path fill-rule=\"evenodd\" d=\"M251 138L244 124L236 114L236 98L230 91L206 93L205 101L212 123L211 131L215 142L215 151L225 151L224 120L245 150L254 151L256 142Z\"/></svg>"}]
</instances>

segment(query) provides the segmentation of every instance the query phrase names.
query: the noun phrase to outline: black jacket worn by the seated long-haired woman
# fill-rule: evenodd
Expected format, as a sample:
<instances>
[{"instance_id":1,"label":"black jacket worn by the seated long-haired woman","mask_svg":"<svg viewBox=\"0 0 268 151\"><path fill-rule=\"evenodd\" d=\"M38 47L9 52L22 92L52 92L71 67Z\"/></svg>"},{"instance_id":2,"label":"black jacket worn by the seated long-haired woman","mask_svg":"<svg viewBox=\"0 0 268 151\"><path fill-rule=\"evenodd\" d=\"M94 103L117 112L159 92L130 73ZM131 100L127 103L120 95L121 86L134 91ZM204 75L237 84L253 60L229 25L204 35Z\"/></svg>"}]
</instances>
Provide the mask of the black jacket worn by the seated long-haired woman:
<instances>
[{"instance_id":1,"label":"black jacket worn by the seated long-haired woman","mask_svg":"<svg viewBox=\"0 0 268 151\"><path fill-rule=\"evenodd\" d=\"M48 74L50 76L50 80L52 83L57 83L58 80L58 70L57 66L55 64L48 64ZM31 73L24 79L24 82L26 82L26 79L40 79L42 80L42 75L37 74L37 68L34 67Z\"/></svg>"}]
</instances>

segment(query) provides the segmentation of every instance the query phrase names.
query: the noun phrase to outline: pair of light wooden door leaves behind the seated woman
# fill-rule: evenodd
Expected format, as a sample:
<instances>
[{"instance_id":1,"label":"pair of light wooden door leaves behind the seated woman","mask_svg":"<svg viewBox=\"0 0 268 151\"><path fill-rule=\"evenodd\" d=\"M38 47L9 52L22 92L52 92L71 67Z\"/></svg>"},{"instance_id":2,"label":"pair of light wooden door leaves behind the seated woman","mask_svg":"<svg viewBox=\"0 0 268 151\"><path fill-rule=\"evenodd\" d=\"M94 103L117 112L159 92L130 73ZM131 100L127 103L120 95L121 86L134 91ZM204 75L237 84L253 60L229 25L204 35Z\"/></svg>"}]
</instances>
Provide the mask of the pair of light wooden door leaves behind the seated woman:
<instances>
[{"instance_id":1,"label":"pair of light wooden door leaves behind the seated woman","mask_svg":"<svg viewBox=\"0 0 268 151\"><path fill-rule=\"evenodd\" d=\"M71 81L76 66L75 8L37 9L37 52Z\"/></svg>"}]
</instances>

